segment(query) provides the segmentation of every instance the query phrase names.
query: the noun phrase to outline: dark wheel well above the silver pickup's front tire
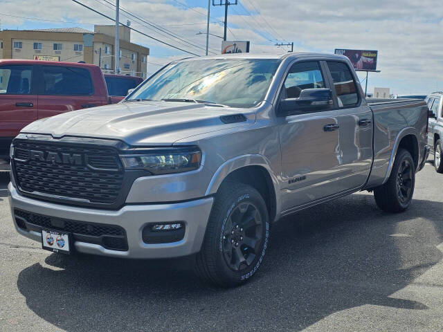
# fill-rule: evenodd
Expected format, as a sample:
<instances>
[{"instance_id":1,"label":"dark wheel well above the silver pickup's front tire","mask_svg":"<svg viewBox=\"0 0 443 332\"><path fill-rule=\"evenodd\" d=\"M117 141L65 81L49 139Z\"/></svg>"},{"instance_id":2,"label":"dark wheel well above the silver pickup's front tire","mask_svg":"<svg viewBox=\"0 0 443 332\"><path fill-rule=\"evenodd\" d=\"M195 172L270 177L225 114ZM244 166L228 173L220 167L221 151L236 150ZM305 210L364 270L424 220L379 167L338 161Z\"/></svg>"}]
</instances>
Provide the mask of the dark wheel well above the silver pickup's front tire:
<instances>
[{"instance_id":1,"label":"dark wheel well above the silver pickup's front tire","mask_svg":"<svg viewBox=\"0 0 443 332\"><path fill-rule=\"evenodd\" d=\"M231 172L226 178L224 178L220 187L226 183L226 181L235 181L254 187L257 192L260 192L266 203L266 208L269 213L269 221L272 222L275 219L275 190L271 176L264 167L255 165L235 169L235 171Z\"/></svg>"}]
</instances>

